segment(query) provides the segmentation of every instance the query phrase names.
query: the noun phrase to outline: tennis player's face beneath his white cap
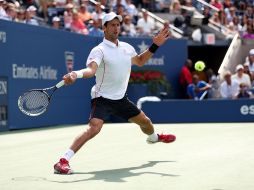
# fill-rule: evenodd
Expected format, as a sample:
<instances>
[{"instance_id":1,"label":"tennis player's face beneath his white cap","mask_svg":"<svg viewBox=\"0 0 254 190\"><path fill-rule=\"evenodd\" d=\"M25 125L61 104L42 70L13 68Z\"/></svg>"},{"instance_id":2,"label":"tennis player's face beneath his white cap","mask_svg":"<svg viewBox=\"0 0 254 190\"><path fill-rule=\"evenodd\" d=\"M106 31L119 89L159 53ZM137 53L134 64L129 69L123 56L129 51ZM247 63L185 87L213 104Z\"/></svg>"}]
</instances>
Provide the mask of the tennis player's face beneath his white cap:
<instances>
[{"instance_id":1,"label":"tennis player's face beneath his white cap","mask_svg":"<svg viewBox=\"0 0 254 190\"><path fill-rule=\"evenodd\" d=\"M120 33L120 21L115 18L107 23L104 27L105 38L109 41L115 42Z\"/></svg>"}]
</instances>

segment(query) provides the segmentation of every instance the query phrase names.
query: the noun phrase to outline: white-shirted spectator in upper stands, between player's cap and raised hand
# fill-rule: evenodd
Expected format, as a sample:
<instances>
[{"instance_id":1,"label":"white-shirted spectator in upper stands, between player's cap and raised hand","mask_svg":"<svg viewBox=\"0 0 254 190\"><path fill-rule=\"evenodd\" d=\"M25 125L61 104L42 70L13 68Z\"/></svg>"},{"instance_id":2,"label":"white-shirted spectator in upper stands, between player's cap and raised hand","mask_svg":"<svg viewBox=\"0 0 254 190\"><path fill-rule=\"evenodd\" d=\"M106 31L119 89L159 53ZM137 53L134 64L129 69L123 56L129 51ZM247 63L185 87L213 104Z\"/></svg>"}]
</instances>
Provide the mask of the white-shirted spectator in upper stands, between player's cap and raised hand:
<instances>
[{"instance_id":1,"label":"white-shirted spectator in upper stands, between player's cap and raised hand","mask_svg":"<svg viewBox=\"0 0 254 190\"><path fill-rule=\"evenodd\" d=\"M137 31L141 36L151 36L155 29L155 22L152 18L148 17L148 12L143 11L142 17L138 19Z\"/></svg>"}]
</instances>

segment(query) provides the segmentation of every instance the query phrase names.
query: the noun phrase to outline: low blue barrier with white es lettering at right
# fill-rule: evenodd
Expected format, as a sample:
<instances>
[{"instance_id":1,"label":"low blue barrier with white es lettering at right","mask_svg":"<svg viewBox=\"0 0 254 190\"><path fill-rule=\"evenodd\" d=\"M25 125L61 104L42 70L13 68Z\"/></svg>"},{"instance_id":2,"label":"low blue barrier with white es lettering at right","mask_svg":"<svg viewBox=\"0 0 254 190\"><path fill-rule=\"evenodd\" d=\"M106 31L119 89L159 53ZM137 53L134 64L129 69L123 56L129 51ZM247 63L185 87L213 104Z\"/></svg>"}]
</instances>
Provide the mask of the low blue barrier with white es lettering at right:
<instances>
[{"instance_id":1,"label":"low blue barrier with white es lettering at right","mask_svg":"<svg viewBox=\"0 0 254 190\"><path fill-rule=\"evenodd\" d=\"M155 123L254 122L254 101L164 100L145 102L142 110Z\"/></svg>"}]
</instances>

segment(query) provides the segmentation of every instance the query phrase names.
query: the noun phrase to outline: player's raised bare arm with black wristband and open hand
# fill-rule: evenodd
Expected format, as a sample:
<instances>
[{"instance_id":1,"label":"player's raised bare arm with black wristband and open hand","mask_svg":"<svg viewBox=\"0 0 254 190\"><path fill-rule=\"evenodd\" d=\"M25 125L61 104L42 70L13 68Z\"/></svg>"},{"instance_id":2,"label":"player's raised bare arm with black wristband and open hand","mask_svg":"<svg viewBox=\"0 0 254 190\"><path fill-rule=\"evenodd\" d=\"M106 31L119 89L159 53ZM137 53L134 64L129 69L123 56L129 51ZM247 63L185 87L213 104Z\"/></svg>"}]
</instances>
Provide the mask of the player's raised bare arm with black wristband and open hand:
<instances>
[{"instance_id":1,"label":"player's raised bare arm with black wristband and open hand","mask_svg":"<svg viewBox=\"0 0 254 190\"><path fill-rule=\"evenodd\" d=\"M140 67L143 66L152 57L156 50L169 39L169 37L169 27L168 24L165 24L164 28L153 37L153 44L149 47L149 49L132 58L132 64Z\"/></svg>"}]
</instances>

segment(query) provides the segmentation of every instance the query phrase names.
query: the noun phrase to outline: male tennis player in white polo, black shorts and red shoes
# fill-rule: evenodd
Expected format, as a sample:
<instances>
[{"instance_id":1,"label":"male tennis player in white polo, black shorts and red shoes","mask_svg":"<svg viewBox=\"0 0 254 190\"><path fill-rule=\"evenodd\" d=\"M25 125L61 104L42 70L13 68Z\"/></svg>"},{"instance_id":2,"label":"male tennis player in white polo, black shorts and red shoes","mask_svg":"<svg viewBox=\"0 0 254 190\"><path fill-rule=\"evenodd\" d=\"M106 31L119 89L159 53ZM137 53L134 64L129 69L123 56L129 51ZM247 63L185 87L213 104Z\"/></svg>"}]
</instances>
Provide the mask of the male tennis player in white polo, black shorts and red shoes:
<instances>
[{"instance_id":1,"label":"male tennis player in white polo, black shorts and red shoes","mask_svg":"<svg viewBox=\"0 0 254 190\"><path fill-rule=\"evenodd\" d=\"M63 76L66 85L73 84L77 78L96 76L96 84L91 90L91 114L89 127L80 134L54 165L58 174L71 174L69 160L90 139L96 136L111 114L118 115L140 126L148 135L148 143L170 143L175 140L171 134L156 134L151 120L126 97L126 89L132 64L143 66L155 51L169 38L168 27L164 27L154 38L149 49L137 54L128 43L118 40L122 17L113 12L102 19L103 41L90 52L86 68Z\"/></svg>"}]
</instances>

